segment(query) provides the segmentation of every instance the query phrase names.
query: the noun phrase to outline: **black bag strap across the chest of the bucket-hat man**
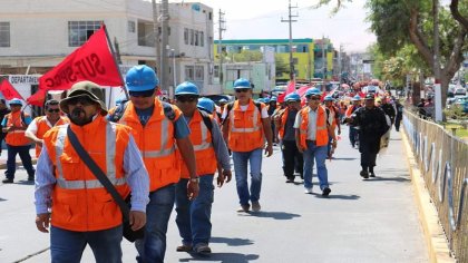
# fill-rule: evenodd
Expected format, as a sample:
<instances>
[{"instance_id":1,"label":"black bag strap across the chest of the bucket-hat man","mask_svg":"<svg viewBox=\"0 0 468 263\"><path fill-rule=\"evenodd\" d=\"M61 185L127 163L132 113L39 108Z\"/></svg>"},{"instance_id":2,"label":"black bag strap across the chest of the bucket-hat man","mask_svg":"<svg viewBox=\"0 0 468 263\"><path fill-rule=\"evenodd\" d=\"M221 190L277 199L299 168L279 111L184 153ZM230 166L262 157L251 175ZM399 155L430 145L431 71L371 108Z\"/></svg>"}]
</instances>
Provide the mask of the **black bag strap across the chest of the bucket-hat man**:
<instances>
[{"instance_id":1,"label":"black bag strap across the chest of the bucket-hat man","mask_svg":"<svg viewBox=\"0 0 468 263\"><path fill-rule=\"evenodd\" d=\"M85 150L85 148L82 148L82 145L79 143L77 136L71 130L70 126L67 127L67 136L71 145L74 146L75 150L77 152L79 157L82 159L82 162L85 162L85 164L92 172L96 178L104 185L104 187L106 187L107 192L109 192L114 201L118 204L118 206L120 207L121 214L124 216L124 221L127 222L130 210L128 208L128 205L125 203L124 198L117 192L116 187L113 185L113 183L110 183L109 178L106 176L103 169L99 168L99 166L91 158L91 156L89 156L89 154Z\"/></svg>"}]
</instances>

